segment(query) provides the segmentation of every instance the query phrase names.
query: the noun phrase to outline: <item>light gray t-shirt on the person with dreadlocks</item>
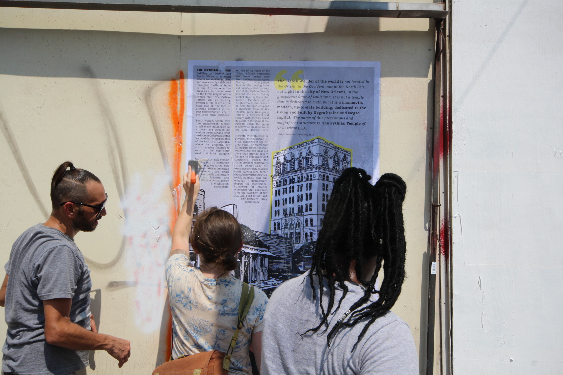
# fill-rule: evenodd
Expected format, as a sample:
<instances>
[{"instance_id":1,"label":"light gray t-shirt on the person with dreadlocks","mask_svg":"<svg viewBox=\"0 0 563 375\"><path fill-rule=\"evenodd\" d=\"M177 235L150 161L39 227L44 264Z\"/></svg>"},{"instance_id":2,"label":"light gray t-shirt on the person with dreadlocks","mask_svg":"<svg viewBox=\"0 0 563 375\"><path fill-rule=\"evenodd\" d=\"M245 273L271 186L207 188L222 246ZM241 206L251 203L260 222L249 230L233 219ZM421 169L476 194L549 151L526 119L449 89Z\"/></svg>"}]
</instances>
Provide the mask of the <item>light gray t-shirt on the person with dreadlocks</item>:
<instances>
[{"instance_id":1,"label":"light gray t-shirt on the person with dreadlocks","mask_svg":"<svg viewBox=\"0 0 563 375\"><path fill-rule=\"evenodd\" d=\"M388 312L369 327L356 349L365 322L344 328L327 346L328 332L364 295L364 288L346 282L348 293L336 313L329 316L327 332L305 333L320 323L319 285L312 299L309 272L281 284L270 297L262 329L261 375L418 375L417 350L408 325ZM325 287L327 279L324 279ZM324 289L323 306L328 305ZM335 304L342 296L337 287ZM367 321L368 319L366 319ZM324 332L324 333L323 333Z\"/></svg>"}]
</instances>

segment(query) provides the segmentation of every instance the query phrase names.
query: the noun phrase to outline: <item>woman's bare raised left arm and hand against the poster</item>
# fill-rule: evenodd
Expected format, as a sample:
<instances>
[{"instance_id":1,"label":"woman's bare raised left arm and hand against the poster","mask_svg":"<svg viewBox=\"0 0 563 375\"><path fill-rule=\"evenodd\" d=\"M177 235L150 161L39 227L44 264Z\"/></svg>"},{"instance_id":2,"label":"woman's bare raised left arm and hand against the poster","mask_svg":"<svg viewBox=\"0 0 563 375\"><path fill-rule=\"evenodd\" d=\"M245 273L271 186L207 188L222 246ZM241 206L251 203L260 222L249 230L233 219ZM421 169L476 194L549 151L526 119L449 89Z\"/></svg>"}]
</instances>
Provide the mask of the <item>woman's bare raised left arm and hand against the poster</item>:
<instances>
[{"instance_id":1,"label":"woman's bare raised left arm and hand against the poster","mask_svg":"<svg viewBox=\"0 0 563 375\"><path fill-rule=\"evenodd\" d=\"M182 187L184 187L184 191L186 192L186 198L178 214L176 225L174 225L174 231L172 232L172 249L168 256L184 253L187 257L190 257L191 220L194 216L195 199L198 197L199 193L199 175L196 173L194 173L194 175L195 183L191 183L191 166L188 166L187 173L182 179Z\"/></svg>"}]
</instances>

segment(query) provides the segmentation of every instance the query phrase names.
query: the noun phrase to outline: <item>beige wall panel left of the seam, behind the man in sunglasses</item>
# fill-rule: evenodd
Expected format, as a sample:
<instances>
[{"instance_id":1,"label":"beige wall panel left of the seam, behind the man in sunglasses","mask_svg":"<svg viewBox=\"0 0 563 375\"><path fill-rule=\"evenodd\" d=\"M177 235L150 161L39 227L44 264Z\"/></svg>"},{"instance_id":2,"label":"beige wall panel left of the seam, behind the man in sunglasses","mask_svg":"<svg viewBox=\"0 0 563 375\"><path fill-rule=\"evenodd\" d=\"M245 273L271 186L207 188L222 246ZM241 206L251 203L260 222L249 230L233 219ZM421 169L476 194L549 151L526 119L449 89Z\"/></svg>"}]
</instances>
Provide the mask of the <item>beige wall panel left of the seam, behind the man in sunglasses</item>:
<instances>
[{"instance_id":1,"label":"beige wall panel left of the seam, behind the man in sunglasses","mask_svg":"<svg viewBox=\"0 0 563 375\"><path fill-rule=\"evenodd\" d=\"M14 153L21 156L46 211L51 174L60 162L72 160L98 175L108 192L108 215L96 232L80 233L76 242L92 270L92 289L99 290L92 293L97 306L92 310L101 307L100 332L127 338L133 354L118 369L113 358L97 352L91 367L104 374L150 373L162 358L164 340L159 329L146 333L136 322L136 293L144 286L132 283L134 258L123 241L121 201L132 189L145 196L157 178L168 186L156 135L172 138L169 79L177 77L180 40L106 31L0 29L0 34L0 49L10 51L0 57L0 260L7 261L12 242L25 228L44 220ZM169 153L168 143L164 152ZM135 186L137 176L141 180ZM171 206L170 189L141 204ZM153 245L156 238L148 241ZM162 305L166 289L153 297ZM162 315L159 311L157 326ZM5 332L3 319L2 326Z\"/></svg>"}]
</instances>

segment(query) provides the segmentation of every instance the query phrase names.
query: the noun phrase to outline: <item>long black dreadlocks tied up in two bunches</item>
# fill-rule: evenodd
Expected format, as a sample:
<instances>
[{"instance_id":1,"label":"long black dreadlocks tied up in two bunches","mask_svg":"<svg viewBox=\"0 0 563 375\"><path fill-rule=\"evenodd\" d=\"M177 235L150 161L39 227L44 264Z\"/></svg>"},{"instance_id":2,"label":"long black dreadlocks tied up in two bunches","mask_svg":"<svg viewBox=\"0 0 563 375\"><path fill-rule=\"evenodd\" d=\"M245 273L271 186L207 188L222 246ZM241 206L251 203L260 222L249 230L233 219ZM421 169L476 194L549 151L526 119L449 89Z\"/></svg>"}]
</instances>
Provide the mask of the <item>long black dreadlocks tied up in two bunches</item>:
<instances>
[{"instance_id":1,"label":"long black dreadlocks tied up in two bunches","mask_svg":"<svg viewBox=\"0 0 563 375\"><path fill-rule=\"evenodd\" d=\"M373 186L365 170L348 168L336 180L327 204L323 228L319 232L316 249L312 256L309 279L316 299L314 278L320 286L319 305L321 311L318 326L307 332L328 329L329 315L340 308L348 287L350 265L355 261L358 280L365 287L362 297L350 307L350 313L330 329L327 344L343 328L360 322L364 327L352 351L368 331L369 326L389 311L401 293L405 279L406 241L403 224L403 201L406 184L393 173L382 175ZM373 275L364 279L363 266L376 260ZM383 262L383 282L376 290L376 279ZM329 300L323 305L323 278L328 279ZM336 287L342 292L334 309ZM377 301L370 297L378 294ZM305 332L306 333L306 332Z\"/></svg>"}]
</instances>

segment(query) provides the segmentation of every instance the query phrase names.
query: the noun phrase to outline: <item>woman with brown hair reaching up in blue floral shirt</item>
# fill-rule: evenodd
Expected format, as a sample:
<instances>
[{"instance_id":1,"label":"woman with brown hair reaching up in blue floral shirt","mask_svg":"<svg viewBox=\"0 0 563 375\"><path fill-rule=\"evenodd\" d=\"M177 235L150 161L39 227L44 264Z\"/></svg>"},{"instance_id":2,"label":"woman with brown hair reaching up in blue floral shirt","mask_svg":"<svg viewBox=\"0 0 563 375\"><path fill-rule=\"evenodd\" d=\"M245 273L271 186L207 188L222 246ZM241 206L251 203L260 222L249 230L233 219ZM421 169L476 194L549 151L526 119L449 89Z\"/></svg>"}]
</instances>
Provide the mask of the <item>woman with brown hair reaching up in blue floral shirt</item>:
<instances>
[{"instance_id":1,"label":"woman with brown hair reaching up in blue floral shirt","mask_svg":"<svg viewBox=\"0 0 563 375\"><path fill-rule=\"evenodd\" d=\"M236 253L243 246L239 223L227 211L211 207L198 215L191 228L199 193L199 177L195 173L192 176L191 168L184 175L182 186L186 198L174 227L172 251L166 265L173 359L203 351L227 352L236 330L243 287L242 281L229 274L236 268ZM199 256L199 267L190 261L190 243ZM252 374L251 345L260 367L267 297L258 288L254 288L254 293L231 357L229 374Z\"/></svg>"}]
</instances>

